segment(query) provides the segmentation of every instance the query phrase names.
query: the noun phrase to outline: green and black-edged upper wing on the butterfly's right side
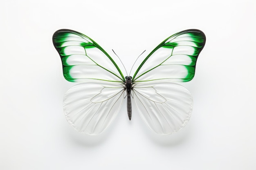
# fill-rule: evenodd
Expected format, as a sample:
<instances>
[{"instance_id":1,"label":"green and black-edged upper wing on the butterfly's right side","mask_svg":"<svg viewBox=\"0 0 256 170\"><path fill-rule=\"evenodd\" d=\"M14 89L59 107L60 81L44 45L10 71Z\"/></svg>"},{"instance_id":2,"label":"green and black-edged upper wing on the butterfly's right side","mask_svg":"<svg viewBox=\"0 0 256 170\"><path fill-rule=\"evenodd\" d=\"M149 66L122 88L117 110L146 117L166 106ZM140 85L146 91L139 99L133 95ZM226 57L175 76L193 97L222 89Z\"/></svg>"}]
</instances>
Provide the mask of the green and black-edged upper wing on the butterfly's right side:
<instances>
[{"instance_id":1,"label":"green and black-edged upper wing on the butterfly's right side","mask_svg":"<svg viewBox=\"0 0 256 170\"><path fill-rule=\"evenodd\" d=\"M132 81L190 81L195 75L195 64L205 40L204 33L197 29L172 35L144 59L135 71Z\"/></svg>"}]
</instances>

